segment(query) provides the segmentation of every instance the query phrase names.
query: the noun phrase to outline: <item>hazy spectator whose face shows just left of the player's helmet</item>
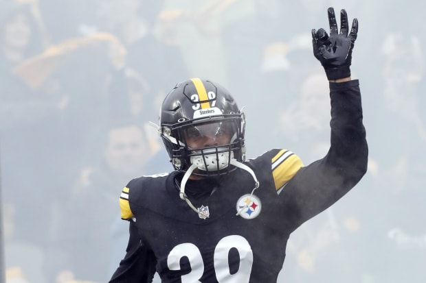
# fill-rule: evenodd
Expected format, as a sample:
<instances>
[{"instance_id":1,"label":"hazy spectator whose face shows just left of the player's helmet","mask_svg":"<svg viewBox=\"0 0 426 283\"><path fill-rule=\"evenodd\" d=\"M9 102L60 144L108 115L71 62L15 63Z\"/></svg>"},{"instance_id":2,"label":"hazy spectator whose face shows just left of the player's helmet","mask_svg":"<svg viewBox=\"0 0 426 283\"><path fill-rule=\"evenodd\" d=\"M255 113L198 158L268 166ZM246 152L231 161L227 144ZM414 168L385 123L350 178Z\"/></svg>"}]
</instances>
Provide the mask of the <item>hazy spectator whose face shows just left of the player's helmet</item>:
<instances>
[{"instance_id":1,"label":"hazy spectator whose face shows just left of the player's helmet","mask_svg":"<svg viewBox=\"0 0 426 283\"><path fill-rule=\"evenodd\" d=\"M142 175L152 155L137 121L114 121L104 132L101 144L102 158L95 167L82 169L70 199L59 212L60 221L52 237L54 246L47 258L54 259L49 260L47 269L56 282L106 282L112 275L109 264L116 241L112 232L123 230L113 226L120 210L117 187L124 186L129 177Z\"/></svg>"}]
</instances>

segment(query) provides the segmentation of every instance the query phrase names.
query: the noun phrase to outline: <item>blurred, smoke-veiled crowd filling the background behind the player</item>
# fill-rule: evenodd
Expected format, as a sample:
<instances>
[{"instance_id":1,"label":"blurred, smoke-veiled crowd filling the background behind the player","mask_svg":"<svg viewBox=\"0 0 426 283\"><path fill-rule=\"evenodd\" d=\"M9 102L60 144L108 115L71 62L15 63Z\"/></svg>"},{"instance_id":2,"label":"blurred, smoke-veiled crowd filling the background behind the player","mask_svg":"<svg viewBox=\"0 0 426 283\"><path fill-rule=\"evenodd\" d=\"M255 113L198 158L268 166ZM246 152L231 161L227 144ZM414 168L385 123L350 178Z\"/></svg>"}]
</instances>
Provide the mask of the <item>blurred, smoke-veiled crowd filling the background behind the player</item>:
<instances>
[{"instance_id":1,"label":"blurred, smoke-veiled crowd filling the background behind the player","mask_svg":"<svg viewBox=\"0 0 426 283\"><path fill-rule=\"evenodd\" d=\"M293 233L278 282L426 282L426 4L412 2L0 0L6 282L109 280L128 233L119 194L172 170L150 122L189 77L245 108L249 158L324 156L328 82L310 37L329 6L359 19L369 168Z\"/></svg>"}]
</instances>

